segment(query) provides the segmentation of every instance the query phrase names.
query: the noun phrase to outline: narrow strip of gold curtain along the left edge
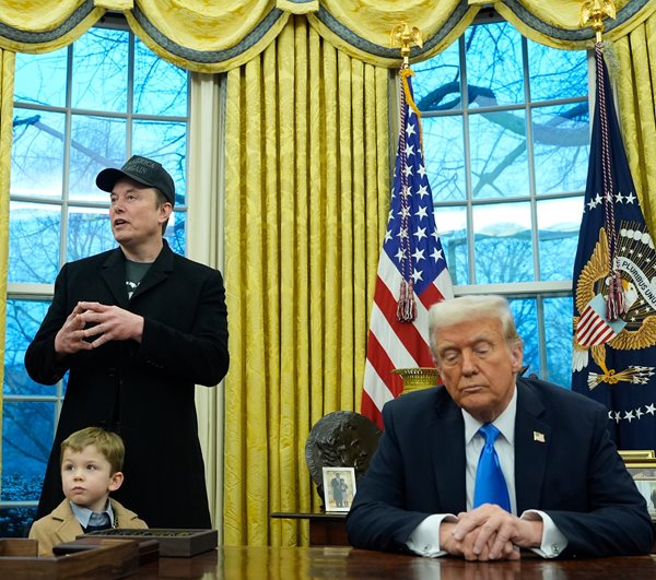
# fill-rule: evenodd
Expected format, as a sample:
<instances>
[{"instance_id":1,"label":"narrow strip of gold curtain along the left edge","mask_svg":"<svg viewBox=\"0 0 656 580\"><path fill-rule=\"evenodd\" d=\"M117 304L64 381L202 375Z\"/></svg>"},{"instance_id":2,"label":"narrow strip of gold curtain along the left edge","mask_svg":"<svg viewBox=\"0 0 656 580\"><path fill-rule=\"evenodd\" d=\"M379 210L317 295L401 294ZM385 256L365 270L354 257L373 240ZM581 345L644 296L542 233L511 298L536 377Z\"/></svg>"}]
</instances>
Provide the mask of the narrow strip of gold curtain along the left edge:
<instances>
[{"instance_id":1,"label":"narrow strip of gold curtain along the left edge","mask_svg":"<svg viewBox=\"0 0 656 580\"><path fill-rule=\"evenodd\" d=\"M0 354L2 360L4 360L4 334L7 329L9 168L11 166L14 63L14 54L0 49ZM0 384L4 384L4 364L0 365ZM0 389L0 410L2 409L3 391L4 389ZM2 433L2 413L0 413L0 433ZM0 475L1 466L2 446L0 445Z\"/></svg>"}]
</instances>

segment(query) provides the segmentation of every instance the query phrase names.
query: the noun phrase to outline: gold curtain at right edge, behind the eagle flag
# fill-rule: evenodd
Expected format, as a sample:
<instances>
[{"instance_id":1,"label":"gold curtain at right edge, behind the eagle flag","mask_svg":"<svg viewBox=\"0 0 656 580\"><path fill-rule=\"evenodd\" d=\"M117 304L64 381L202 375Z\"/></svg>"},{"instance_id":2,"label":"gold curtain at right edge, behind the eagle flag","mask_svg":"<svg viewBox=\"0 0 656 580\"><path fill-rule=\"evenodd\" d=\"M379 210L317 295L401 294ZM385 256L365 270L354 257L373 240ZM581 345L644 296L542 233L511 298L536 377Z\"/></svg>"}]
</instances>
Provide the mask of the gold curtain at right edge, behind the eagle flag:
<instances>
[{"instance_id":1,"label":"gold curtain at right edge, behind the eagle flag","mask_svg":"<svg viewBox=\"0 0 656 580\"><path fill-rule=\"evenodd\" d=\"M611 45L622 139L647 227L656 233L656 15ZM614 59L612 58L614 56Z\"/></svg>"}]
</instances>

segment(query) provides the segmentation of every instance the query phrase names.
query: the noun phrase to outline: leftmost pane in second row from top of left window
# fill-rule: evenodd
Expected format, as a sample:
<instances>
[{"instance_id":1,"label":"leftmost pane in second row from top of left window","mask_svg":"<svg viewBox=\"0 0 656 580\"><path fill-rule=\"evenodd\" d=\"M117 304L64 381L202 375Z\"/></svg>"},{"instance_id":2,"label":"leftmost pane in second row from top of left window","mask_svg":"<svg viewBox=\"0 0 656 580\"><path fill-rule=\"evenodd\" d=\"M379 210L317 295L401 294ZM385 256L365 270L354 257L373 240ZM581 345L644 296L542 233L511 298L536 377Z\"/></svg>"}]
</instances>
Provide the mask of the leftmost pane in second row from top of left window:
<instances>
[{"instance_id":1,"label":"leftmost pane in second row from top of left window","mask_svg":"<svg viewBox=\"0 0 656 580\"><path fill-rule=\"evenodd\" d=\"M65 115L14 108L11 193L61 198Z\"/></svg>"}]
</instances>

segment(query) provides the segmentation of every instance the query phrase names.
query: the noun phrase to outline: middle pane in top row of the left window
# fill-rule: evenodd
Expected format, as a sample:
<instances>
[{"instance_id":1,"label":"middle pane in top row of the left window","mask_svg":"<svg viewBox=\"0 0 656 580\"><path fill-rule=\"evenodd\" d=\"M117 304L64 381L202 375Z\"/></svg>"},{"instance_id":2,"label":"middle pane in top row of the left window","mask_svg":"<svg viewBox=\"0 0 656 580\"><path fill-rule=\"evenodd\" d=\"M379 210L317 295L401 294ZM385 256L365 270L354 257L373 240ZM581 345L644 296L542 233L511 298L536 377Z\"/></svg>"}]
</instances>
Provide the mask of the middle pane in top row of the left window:
<instances>
[{"instance_id":1,"label":"middle pane in top row of the left window","mask_svg":"<svg viewBox=\"0 0 656 580\"><path fill-rule=\"evenodd\" d=\"M72 107L126 113L129 33L91 28L73 44Z\"/></svg>"}]
</instances>

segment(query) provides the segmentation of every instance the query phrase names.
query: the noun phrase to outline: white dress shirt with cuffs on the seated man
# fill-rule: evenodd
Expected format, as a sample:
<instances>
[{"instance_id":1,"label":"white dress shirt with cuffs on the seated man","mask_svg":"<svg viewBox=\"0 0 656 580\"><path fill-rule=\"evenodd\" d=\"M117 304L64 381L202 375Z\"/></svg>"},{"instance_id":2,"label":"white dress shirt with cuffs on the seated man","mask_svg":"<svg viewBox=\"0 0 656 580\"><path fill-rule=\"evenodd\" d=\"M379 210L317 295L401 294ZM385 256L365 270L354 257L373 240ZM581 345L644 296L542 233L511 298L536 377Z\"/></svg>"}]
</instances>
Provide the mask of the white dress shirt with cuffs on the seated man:
<instances>
[{"instance_id":1,"label":"white dress shirt with cuffs on the seated man","mask_svg":"<svg viewBox=\"0 0 656 580\"><path fill-rule=\"evenodd\" d=\"M481 422L475 419L464 409L462 418L465 419L465 455L467 460L465 483L467 487L467 511L473 507L473 486L476 483L476 470L479 455L485 442L485 438L478 433ZM501 435L494 441L494 449L499 455L501 471L505 477L511 498L511 511L517 514L517 498L515 494L515 416L517 414L517 388L513 393L513 399L505 411L496 417L493 425L501 431ZM536 554L543 558L555 558L566 546L567 538L555 526L553 520L540 510L526 510L522 513L522 519L542 520L542 543L539 548L531 548ZM410 534L406 545L415 554L427 557L438 557L446 555L446 551L440 547L440 525L443 520L456 522L457 518L453 513L435 513L429 516Z\"/></svg>"}]
</instances>

